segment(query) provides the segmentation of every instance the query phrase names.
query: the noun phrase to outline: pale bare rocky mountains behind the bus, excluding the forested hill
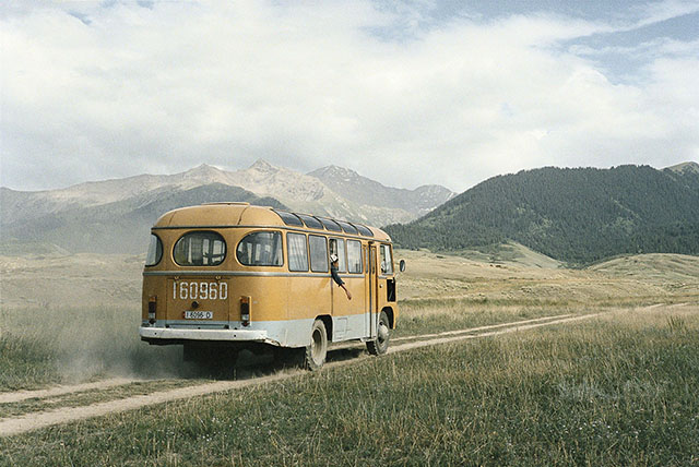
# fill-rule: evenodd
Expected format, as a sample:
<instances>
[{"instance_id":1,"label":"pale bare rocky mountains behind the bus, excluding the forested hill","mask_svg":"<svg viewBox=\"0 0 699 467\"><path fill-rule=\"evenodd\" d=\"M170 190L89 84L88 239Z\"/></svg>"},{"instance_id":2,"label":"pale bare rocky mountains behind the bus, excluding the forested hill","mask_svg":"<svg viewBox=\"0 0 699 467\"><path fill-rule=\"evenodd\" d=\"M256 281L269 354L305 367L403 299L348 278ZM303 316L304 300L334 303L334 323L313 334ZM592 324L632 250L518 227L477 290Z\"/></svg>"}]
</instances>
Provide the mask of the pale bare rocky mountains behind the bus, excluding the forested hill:
<instances>
[{"instance_id":1,"label":"pale bare rocky mountains behind the bus, excluding the forested hill","mask_svg":"<svg viewBox=\"0 0 699 467\"><path fill-rule=\"evenodd\" d=\"M335 166L300 173L264 160L237 171L201 165L60 190L0 188L0 246L5 252L141 253L157 217L187 205L247 201L381 226L413 220L454 194L439 185L389 188Z\"/></svg>"}]
</instances>

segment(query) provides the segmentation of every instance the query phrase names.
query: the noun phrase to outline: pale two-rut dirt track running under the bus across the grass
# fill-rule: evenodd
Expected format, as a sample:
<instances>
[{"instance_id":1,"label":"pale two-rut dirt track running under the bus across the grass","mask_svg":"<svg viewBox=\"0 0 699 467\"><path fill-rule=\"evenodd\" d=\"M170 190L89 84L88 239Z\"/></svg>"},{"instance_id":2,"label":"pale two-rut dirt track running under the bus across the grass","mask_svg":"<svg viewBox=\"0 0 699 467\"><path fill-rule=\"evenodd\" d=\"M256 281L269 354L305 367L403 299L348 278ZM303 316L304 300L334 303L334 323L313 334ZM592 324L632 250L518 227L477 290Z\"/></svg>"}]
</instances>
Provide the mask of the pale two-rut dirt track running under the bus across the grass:
<instances>
[{"instance_id":1,"label":"pale two-rut dirt track running under the bus across the grass","mask_svg":"<svg viewBox=\"0 0 699 467\"><path fill-rule=\"evenodd\" d=\"M672 306L676 307L676 306ZM653 307L655 308L655 306ZM603 313L585 314L585 315L557 315L541 318L535 320L510 322L490 326L481 326L469 330L460 330L446 332L440 334L428 334L420 336L404 337L401 339L394 339L394 345L389 348L389 354L396 354L411 349L429 347L440 344L454 343L464 339L483 338L488 336L497 336L501 334L522 332L533 330L542 326L552 326L565 323L574 323L584 320L591 320L603 314L611 314L615 311L606 311ZM398 344L396 342L408 340L404 344ZM347 364L354 364L357 361L362 361L368 356L360 356L351 360L335 361L327 364L329 368L342 367ZM265 376L257 376L248 380L236 381L217 381L205 384L197 384L187 387L179 387L167 391L157 391L145 395L131 396L120 398L116 400L96 403L85 405L81 407L63 407L50 410L33 411L27 415L0 419L0 436L9 436L14 434L24 433L32 430L37 430L45 427L50 427L59 423L68 423L76 420L83 420L93 417L105 416L108 414L133 410L141 407L151 406L154 404L162 404L166 402L173 402L178 399L185 399L205 394L213 394L224 391L230 391L247 386L262 385L271 382L287 380L291 378L297 378L305 374L303 370L284 370L274 374ZM78 394L85 391L95 388L114 387L118 385L128 385L133 383L134 380L105 380L98 383L79 384L74 386L58 386L49 390L42 391L23 391L20 393L2 394L0 395L0 404L10 404L21 400L32 399L47 399L57 395L64 394Z\"/></svg>"}]
</instances>

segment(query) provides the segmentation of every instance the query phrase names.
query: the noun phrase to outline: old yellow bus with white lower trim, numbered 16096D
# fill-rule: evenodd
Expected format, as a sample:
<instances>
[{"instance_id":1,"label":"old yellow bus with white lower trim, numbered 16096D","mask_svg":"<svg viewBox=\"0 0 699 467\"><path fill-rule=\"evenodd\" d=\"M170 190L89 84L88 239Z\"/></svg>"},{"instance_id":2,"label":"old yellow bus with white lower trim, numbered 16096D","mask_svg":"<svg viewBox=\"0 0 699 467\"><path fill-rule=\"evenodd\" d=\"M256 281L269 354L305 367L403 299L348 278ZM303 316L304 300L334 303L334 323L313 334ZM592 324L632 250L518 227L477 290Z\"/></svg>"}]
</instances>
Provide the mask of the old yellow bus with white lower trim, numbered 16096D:
<instances>
[{"instance_id":1,"label":"old yellow bus with white lower trim, numbered 16096D","mask_svg":"<svg viewBox=\"0 0 699 467\"><path fill-rule=\"evenodd\" d=\"M310 370L322 367L329 343L387 351L399 310L393 248L382 230L209 203L164 214L151 232L142 340L183 345L185 359L271 346ZM348 294L332 279L331 259Z\"/></svg>"}]
</instances>

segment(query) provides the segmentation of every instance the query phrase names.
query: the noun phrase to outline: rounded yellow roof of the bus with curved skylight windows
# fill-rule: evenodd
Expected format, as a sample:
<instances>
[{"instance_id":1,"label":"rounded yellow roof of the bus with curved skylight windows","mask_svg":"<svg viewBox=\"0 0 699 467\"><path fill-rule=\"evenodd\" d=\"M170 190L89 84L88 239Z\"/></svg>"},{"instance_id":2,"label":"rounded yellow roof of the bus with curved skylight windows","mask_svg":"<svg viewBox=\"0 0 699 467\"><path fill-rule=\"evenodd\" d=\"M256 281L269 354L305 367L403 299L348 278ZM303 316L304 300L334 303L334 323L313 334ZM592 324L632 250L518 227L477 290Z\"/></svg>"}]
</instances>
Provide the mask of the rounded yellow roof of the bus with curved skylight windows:
<instances>
[{"instance_id":1,"label":"rounded yellow roof of the bus with curved skylight windows","mask_svg":"<svg viewBox=\"0 0 699 467\"><path fill-rule=\"evenodd\" d=\"M206 203L180 207L165 213L156 220L154 229L226 228L226 227L286 227L329 235L351 235L391 241L383 230L364 224L337 220L310 214L292 213L270 206L249 203Z\"/></svg>"}]
</instances>

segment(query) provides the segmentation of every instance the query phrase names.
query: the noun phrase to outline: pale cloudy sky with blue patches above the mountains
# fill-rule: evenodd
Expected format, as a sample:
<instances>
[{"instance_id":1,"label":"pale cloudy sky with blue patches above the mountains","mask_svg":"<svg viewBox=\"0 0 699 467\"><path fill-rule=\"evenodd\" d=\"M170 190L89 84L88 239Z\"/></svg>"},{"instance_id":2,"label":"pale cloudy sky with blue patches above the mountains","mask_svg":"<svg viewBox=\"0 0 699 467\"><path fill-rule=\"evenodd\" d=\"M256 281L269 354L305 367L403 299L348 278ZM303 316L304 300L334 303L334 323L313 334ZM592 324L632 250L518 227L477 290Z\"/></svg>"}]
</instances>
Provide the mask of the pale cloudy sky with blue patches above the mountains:
<instances>
[{"instance_id":1,"label":"pale cloudy sky with blue patches above the mountains","mask_svg":"<svg viewBox=\"0 0 699 467\"><path fill-rule=\"evenodd\" d=\"M698 25L699 0L5 0L0 184L697 161Z\"/></svg>"}]
</instances>

